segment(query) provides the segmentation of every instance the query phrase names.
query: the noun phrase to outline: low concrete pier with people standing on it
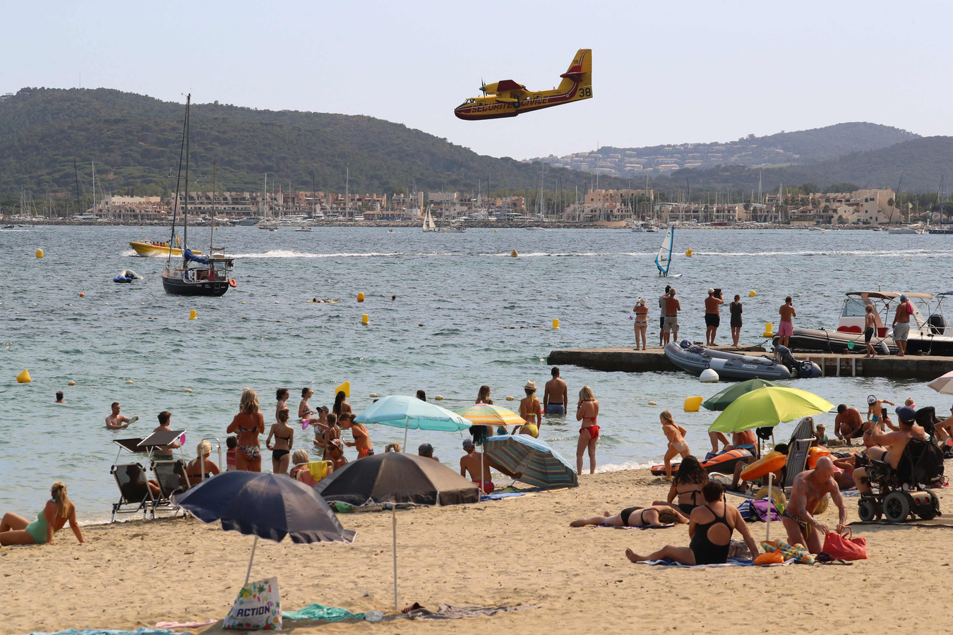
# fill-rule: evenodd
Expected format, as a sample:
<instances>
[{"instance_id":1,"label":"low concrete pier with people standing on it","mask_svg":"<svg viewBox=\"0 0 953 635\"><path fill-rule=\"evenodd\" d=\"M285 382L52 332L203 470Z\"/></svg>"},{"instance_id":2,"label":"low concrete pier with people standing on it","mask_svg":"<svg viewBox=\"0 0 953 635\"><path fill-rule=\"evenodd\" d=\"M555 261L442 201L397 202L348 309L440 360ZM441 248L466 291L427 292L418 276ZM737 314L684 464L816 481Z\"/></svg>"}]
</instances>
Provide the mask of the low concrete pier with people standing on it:
<instances>
[{"instance_id":1,"label":"low concrete pier with people standing on it","mask_svg":"<svg viewBox=\"0 0 953 635\"><path fill-rule=\"evenodd\" d=\"M770 356L761 347L719 347L720 350L740 352L746 355ZM824 376L835 377L890 377L892 379L933 380L953 370L953 357L938 355L882 355L864 359L862 354L795 352L798 360L814 362ZM633 347L574 348L550 352L551 366L580 366L594 370L617 370L622 372L648 372L673 370L684 372L668 361L660 347L636 350Z\"/></svg>"}]
</instances>

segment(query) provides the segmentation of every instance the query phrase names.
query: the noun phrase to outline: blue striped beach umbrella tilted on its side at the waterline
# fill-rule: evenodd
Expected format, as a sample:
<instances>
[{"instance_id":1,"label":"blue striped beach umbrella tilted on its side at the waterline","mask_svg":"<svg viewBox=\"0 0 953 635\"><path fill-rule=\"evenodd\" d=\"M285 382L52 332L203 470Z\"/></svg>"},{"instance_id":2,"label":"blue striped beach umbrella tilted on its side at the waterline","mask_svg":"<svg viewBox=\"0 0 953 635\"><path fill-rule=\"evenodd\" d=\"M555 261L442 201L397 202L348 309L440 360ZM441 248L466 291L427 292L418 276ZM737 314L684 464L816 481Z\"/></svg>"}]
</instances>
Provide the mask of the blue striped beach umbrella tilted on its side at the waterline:
<instances>
[{"instance_id":1,"label":"blue striped beach umbrella tilted on its side at the waterline","mask_svg":"<svg viewBox=\"0 0 953 635\"><path fill-rule=\"evenodd\" d=\"M488 438L483 449L488 458L511 472L522 472L517 481L537 487L576 487L576 469L548 444L528 434Z\"/></svg>"}]
</instances>

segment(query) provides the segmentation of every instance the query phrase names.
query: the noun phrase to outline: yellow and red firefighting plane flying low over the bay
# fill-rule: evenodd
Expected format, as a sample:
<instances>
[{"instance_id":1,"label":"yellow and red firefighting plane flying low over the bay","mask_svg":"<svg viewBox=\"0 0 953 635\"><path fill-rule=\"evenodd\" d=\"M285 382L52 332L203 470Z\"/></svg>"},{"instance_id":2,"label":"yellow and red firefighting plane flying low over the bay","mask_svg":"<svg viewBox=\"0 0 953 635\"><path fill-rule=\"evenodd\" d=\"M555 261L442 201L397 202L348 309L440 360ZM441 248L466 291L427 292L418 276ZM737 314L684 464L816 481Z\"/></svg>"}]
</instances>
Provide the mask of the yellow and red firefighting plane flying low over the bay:
<instances>
[{"instance_id":1,"label":"yellow and red firefighting plane flying low over the bay","mask_svg":"<svg viewBox=\"0 0 953 635\"><path fill-rule=\"evenodd\" d=\"M559 75L562 81L552 90L527 90L512 79L480 87L482 97L471 97L454 109L454 114L468 121L516 117L532 110L561 106L593 96L593 51L579 49L569 69Z\"/></svg>"}]
</instances>

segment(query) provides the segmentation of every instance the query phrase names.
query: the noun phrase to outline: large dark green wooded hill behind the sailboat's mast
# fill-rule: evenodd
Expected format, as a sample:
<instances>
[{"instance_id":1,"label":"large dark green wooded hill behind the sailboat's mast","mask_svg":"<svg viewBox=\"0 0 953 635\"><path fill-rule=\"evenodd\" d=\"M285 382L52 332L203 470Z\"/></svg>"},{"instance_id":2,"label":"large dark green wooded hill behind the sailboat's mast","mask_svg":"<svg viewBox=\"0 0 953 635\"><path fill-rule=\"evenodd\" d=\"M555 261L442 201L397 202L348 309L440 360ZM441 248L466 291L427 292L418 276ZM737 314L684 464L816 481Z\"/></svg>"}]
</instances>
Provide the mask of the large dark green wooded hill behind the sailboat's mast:
<instances>
[{"instance_id":1,"label":"large dark green wooded hill behind the sailboat's mast","mask_svg":"<svg viewBox=\"0 0 953 635\"><path fill-rule=\"evenodd\" d=\"M0 101L0 198L36 198L46 191L89 191L91 164L97 183L113 192L166 193L173 188L184 106L112 89L21 89ZM222 104L192 109L191 173L200 189L257 191L270 179L293 189L384 192L392 187L476 192L491 188L537 189L540 167L495 158L446 139L381 119L322 112L272 111ZM590 174L547 169L546 185L583 189ZM608 180L608 187L624 185Z\"/></svg>"}]
</instances>

